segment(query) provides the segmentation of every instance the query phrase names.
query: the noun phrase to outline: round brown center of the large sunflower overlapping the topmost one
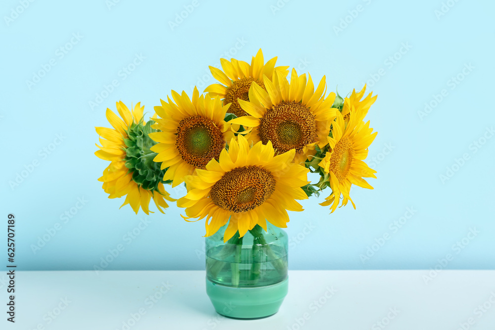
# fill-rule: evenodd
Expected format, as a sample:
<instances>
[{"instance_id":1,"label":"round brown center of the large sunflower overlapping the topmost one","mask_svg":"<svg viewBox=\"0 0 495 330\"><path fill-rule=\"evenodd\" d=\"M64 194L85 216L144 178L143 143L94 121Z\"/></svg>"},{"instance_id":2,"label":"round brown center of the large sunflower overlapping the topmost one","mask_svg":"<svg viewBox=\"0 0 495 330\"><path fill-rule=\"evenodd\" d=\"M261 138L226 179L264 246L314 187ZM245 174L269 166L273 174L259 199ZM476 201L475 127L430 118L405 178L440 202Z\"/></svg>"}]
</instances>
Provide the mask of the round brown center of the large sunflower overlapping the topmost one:
<instances>
[{"instance_id":1,"label":"round brown center of the large sunflower overlapping the topmost one","mask_svg":"<svg viewBox=\"0 0 495 330\"><path fill-rule=\"evenodd\" d=\"M272 141L279 152L296 149L314 142L316 120L307 107L300 102L280 102L261 118L259 138L263 144Z\"/></svg>"}]
</instances>

